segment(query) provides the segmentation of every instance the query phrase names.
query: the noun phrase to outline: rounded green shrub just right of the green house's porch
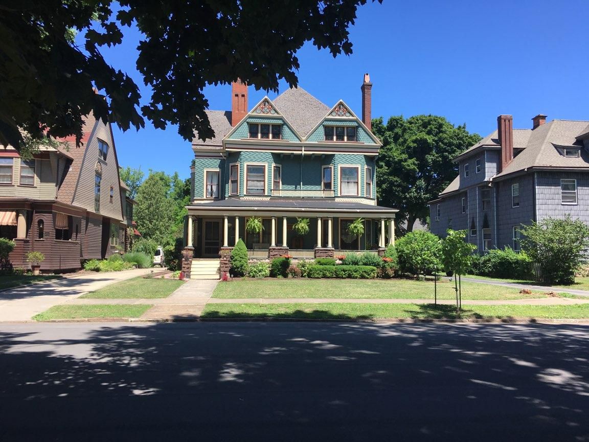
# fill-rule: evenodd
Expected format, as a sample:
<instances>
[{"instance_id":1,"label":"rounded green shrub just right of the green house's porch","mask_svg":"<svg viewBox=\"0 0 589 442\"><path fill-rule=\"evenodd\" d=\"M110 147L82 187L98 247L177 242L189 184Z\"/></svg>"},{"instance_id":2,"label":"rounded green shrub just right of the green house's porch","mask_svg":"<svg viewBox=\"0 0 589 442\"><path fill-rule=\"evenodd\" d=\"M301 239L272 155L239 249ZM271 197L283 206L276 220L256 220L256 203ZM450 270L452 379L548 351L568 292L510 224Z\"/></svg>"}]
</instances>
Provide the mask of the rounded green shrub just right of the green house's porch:
<instances>
[{"instance_id":1,"label":"rounded green shrub just right of the green house's porch","mask_svg":"<svg viewBox=\"0 0 589 442\"><path fill-rule=\"evenodd\" d=\"M442 269L439 238L425 230L415 230L399 238L395 244L399 271L419 275Z\"/></svg>"}]
</instances>

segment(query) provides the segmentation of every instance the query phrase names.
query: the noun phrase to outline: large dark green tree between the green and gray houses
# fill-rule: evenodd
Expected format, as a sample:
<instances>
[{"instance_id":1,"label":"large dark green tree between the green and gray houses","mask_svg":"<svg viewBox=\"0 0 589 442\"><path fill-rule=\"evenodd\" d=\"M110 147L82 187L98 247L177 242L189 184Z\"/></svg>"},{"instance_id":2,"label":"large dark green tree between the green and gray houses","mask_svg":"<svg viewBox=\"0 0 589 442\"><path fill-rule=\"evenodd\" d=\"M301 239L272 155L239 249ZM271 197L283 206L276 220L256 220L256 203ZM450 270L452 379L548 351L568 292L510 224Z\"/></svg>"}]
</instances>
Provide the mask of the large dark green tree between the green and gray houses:
<instances>
[{"instance_id":1,"label":"large dark green tree between the green and gray houses","mask_svg":"<svg viewBox=\"0 0 589 442\"><path fill-rule=\"evenodd\" d=\"M399 209L396 218L407 221L409 232L429 215L428 201L458 174L452 159L481 139L464 124L434 115L395 116L386 124L376 118L372 131L383 144L376 166L379 204Z\"/></svg>"}]
</instances>

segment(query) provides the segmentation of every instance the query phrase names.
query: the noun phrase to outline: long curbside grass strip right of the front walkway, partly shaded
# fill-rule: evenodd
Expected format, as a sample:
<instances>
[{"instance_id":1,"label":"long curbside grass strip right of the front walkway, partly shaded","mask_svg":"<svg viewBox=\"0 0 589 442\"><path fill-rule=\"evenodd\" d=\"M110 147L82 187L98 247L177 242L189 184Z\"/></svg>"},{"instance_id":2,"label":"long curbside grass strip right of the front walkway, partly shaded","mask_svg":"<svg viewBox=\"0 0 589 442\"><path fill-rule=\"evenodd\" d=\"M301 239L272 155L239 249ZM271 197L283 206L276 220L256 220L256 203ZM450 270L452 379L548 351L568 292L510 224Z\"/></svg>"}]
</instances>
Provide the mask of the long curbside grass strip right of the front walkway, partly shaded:
<instances>
[{"instance_id":1,"label":"long curbside grass strip right of the front walkway, partly shaded","mask_svg":"<svg viewBox=\"0 0 589 442\"><path fill-rule=\"evenodd\" d=\"M454 305L434 304L209 304L202 318L295 319L585 319L589 305Z\"/></svg>"}]
</instances>

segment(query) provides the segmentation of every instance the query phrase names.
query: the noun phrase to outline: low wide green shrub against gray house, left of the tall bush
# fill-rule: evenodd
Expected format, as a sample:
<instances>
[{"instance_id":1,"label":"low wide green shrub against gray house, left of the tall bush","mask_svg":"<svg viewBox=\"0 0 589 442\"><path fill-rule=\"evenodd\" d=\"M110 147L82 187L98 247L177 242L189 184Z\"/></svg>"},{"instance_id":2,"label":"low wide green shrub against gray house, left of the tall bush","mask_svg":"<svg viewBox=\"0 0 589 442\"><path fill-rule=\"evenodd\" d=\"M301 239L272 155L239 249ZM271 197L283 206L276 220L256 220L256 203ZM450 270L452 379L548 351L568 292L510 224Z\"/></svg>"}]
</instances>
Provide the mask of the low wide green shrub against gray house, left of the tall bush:
<instances>
[{"instance_id":1,"label":"low wide green shrub against gray house, left of the tall bush","mask_svg":"<svg viewBox=\"0 0 589 442\"><path fill-rule=\"evenodd\" d=\"M525 252L515 252L509 246L489 250L480 258L479 275L491 278L530 279L533 263Z\"/></svg>"}]
</instances>

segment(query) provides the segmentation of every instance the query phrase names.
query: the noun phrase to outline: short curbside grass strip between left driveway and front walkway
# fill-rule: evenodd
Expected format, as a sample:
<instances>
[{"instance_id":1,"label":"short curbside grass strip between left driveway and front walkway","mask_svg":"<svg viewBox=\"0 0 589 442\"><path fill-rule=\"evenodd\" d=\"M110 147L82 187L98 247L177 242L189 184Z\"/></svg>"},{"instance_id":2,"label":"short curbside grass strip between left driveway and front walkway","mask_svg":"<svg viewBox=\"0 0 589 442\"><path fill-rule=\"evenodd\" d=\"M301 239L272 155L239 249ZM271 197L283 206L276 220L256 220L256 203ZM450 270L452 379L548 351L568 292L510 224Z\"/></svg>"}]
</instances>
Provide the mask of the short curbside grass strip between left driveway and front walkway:
<instances>
[{"instance_id":1,"label":"short curbside grass strip between left driveway and front walkway","mask_svg":"<svg viewBox=\"0 0 589 442\"><path fill-rule=\"evenodd\" d=\"M51 319L81 319L81 318L138 318L151 305L120 304L120 305L56 305L33 316L35 321L49 321Z\"/></svg>"}]
</instances>

